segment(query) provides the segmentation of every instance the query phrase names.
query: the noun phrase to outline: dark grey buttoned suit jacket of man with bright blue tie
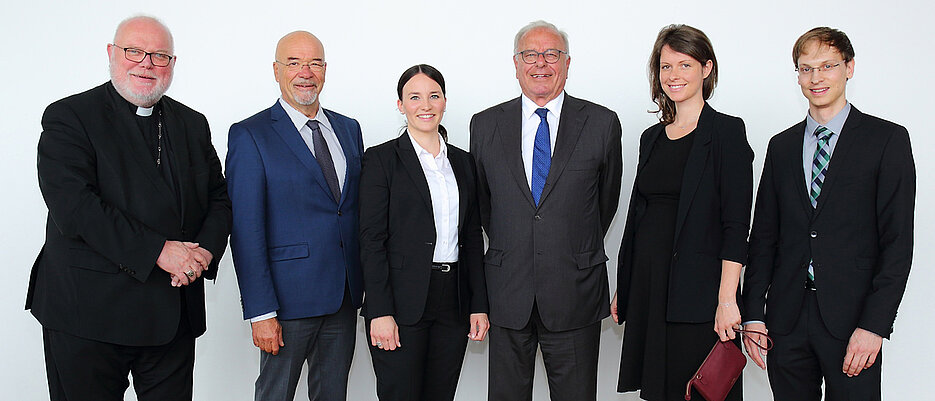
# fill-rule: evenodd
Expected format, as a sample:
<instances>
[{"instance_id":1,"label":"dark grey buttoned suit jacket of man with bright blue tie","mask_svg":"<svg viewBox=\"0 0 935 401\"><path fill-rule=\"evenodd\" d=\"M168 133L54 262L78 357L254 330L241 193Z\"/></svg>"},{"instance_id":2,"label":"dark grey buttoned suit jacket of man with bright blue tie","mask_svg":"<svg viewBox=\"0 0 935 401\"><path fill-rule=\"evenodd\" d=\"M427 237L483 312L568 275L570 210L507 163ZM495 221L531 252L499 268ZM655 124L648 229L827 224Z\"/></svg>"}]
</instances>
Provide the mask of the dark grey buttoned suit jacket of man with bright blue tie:
<instances>
[{"instance_id":1,"label":"dark grey buttoned suit jacket of man with bright blue tie","mask_svg":"<svg viewBox=\"0 0 935 401\"><path fill-rule=\"evenodd\" d=\"M610 314L604 235L620 197L620 120L607 108L565 95L539 206L522 160L520 98L471 119L490 322L526 325L533 303L549 330Z\"/></svg>"}]
</instances>

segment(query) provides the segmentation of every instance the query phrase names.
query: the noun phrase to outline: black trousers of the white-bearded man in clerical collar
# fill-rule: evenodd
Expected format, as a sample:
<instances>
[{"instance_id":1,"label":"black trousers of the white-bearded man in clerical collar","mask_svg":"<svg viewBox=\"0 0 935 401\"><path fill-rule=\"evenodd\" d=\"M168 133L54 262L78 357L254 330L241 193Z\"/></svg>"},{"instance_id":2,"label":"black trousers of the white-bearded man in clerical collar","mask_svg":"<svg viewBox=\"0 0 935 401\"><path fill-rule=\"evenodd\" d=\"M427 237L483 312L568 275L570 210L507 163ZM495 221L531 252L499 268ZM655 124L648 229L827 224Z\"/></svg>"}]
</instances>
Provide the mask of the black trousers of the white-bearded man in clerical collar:
<instances>
[{"instance_id":1,"label":"black trousers of the white-bearded man in clerical collar","mask_svg":"<svg viewBox=\"0 0 935 401\"><path fill-rule=\"evenodd\" d=\"M46 328L42 340L51 401L123 400L129 374L140 401L192 399L195 338L187 325L159 346L110 344Z\"/></svg>"}]
</instances>

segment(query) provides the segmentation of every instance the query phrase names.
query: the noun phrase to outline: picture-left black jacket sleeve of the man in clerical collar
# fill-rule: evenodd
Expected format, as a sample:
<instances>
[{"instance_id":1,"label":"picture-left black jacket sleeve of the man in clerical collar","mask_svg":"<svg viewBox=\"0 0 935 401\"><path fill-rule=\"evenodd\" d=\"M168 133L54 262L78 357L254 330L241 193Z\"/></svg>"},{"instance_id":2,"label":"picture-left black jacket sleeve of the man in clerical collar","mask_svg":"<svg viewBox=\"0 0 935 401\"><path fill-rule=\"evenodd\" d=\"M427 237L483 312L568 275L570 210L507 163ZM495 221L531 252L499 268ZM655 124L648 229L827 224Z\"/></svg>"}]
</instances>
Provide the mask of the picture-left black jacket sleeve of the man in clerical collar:
<instances>
[{"instance_id":1,"label":"picture-left black jacket sleeve of the man in clerical collar","mask_svg":"<svg viewBox=\"0 0 935 401\"><path fill-rule=\"evenodd\" d=\"M145 282L166 237L101 198L98 160L85 124L64 102L42 115L39 189L63 236L80 240L111 262L130 267Z\"/></svg>"}]
</instances>

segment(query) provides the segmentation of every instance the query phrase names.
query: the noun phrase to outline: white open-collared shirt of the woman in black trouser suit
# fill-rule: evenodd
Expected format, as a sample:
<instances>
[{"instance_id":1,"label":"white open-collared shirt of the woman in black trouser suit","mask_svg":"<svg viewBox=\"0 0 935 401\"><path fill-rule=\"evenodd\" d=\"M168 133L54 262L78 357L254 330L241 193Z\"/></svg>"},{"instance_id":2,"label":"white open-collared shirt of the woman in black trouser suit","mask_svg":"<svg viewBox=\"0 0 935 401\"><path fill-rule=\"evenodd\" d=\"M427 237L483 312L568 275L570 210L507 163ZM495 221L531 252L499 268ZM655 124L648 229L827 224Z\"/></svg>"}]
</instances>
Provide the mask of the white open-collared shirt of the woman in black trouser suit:
<instances>
[{"instance_id":1,"label":"white open-collared shirt of the woman in black trouser suit","mask_svg":"<svg viewBox=\"0 0 935 401\"><path fill-rule=\"evenodd\" d=\"M433 262L446 263L458 261L458 216L460 200L458 198L458 180L448 161L448 145L438 135L440 150L438 156L432 156L422 145L416 142L412 134L406 133L412 141L412 147L422 165L425 181L429 184L432 197L432 215L435 217L435 253Z\"/></svg>"}]
</instances>

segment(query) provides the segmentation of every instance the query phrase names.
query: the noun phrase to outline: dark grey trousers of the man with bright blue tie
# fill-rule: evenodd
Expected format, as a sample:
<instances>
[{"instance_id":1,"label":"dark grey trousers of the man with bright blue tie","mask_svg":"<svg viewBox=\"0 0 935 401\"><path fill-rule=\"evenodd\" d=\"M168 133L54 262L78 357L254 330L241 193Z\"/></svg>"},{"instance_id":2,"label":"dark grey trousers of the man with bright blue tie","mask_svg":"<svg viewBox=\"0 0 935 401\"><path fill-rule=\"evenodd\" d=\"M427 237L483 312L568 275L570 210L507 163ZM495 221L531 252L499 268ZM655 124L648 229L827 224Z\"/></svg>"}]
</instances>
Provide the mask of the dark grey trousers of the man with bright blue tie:
<instances>
[{"instance_id":1,"label":"dark grey trousers of the man with bright blue tie","mask_svg":"<svg viewBox=\"0 0 935 401\"><path fill-rule=\"evenodd\" d=\"M552 401L597 398L597 358L601 323L551 331L533 305L526 327L490 326L489 401L531 401L536 348L542 351Z\"/></svg>"}]
</instances>

